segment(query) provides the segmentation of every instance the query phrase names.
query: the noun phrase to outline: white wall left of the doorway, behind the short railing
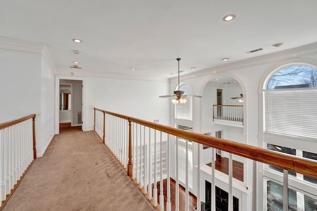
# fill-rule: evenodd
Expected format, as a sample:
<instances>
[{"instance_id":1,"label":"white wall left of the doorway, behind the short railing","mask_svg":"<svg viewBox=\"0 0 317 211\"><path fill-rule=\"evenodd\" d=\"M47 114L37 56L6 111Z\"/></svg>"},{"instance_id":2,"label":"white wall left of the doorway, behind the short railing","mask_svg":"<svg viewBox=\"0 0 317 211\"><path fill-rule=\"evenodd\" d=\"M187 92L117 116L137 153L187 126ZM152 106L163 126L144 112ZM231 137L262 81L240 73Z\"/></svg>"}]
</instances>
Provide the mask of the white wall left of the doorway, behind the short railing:
<instances>
[{"instance_id":1,"label":"white wall left of the doorway, behind the short railing","mask_svg":"<svg viewBox=\"0 0 317 211\"><path fill-rule=\"evenodd\" d=\"M53 138L53 72L42 54L0 50L0 123L36 114L37 156Z\"/></svg>"}]
</instances>

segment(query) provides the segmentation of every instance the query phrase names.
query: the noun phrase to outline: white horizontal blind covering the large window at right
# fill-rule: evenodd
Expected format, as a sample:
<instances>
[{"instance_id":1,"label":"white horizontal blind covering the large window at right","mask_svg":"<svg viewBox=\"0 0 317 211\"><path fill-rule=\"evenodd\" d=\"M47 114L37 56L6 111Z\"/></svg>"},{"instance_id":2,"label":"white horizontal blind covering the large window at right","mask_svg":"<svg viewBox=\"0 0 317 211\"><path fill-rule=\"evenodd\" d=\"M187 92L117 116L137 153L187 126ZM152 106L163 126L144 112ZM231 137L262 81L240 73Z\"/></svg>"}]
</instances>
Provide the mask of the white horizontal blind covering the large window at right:
<instances>
[{"instance_id":1,"label":"white horizontal blind covering the large window at right","mask_svg":"<svg viewBox=\"0 0 317 211\"><path fill-rule=\"evenodd\" d=\"M317 139L317 88L264 90L264 101L265 132Z\"/></svg>"}]
</instances>

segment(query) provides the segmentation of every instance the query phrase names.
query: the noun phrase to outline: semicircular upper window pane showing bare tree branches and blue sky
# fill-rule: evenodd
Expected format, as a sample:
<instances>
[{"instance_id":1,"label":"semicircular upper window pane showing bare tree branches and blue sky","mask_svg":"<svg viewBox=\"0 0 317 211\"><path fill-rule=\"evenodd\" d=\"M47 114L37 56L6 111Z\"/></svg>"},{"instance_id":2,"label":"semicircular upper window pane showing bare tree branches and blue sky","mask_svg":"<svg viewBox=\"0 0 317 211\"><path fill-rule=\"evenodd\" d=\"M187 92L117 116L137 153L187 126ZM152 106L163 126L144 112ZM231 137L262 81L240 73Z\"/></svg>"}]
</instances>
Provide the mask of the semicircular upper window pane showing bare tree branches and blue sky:
<instances>
[{"instance_id":1,"label":"semicircular upper window pane showing bare tree branches and blue sky","mask_svg":"<svg viewBox=\"0 0 317 211\"><path fill-rule=\"evenodd\" d=\"M308 66L290 66L276 72L267 89L317 87L317 70Z\"/></svg>"}]
</instances>

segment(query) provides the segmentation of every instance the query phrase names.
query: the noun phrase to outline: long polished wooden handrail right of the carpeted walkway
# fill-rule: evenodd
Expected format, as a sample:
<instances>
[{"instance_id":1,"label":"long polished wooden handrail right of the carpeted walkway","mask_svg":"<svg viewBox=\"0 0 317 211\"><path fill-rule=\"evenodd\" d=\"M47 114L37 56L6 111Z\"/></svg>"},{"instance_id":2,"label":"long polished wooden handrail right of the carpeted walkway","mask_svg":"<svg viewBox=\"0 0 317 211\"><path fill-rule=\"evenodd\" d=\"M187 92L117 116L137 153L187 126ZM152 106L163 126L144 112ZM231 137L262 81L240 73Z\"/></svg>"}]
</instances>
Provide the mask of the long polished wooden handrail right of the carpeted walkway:
<instances>
[{"instance_id":1,"label":"long polished wooden handrail right of the carpeted walkway","mask_svg":"<svg viewBox=\"0 0 317 211\"><path fill-rule=\"evenodd\" d=\"M279 167L282 169L298 172L304 175L308 175L317 178L317 161L300 158L293 155L288 155L280 152L267 150L264 148L251 146L248 144L237 143L221 138L215 138L208 135L190 132L175 127L169 127L160 125L158 123L152 123L149 121L140 120L134 117L128 117L124 115L107 112L104 110L96 109L107 114L111 114L116 117L124 117L131 122L138 123L140 125L151 127L153 129L160 130L162 132L175 135L184 139L188 139L200 144L204 144L216 149L220 149L244 158L248 158L254 161L258 161L271 166Z\"/></svg>"}]
</instances>

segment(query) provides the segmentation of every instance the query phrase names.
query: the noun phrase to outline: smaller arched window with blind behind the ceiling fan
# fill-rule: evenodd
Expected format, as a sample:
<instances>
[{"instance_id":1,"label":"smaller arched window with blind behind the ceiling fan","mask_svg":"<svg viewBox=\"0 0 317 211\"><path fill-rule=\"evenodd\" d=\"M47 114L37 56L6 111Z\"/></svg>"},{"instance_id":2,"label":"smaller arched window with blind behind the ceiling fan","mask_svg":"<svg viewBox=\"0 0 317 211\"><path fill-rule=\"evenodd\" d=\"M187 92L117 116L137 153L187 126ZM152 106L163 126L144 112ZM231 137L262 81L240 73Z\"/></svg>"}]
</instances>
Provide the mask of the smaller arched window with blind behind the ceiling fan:
<instances>
[{"instance_id":1,"label":"smaller arched window with blind behind the ceiling fan","mask_svg":"<svg viewBox=\"0 0 317 211\"><path fill-rule=\"evenodd\" d=\"M191 94L191 88L188 84L181 84L179 90L185 91L185 95ZM192 97L186 97L186 99L186 103L175 103L175 119L177 120L193 120Z\"/></svg>"}]
</instances>

